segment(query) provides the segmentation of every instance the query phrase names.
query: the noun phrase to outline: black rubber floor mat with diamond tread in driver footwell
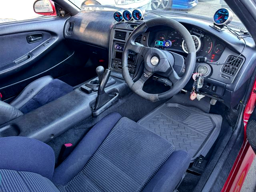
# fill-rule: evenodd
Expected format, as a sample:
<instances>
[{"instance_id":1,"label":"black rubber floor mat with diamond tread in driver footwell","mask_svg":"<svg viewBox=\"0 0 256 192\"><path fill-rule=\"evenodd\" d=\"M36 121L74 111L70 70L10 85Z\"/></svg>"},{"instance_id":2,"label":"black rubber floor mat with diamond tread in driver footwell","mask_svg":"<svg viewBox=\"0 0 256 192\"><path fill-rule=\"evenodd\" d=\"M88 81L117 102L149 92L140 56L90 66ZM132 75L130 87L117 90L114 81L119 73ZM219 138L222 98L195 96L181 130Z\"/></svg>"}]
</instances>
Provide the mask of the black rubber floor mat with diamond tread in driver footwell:
<instances>
[{"instance_id":1,"label":"black rubber floor mat with diamond tread in driver footwell","mask_svg":"<svg viewBox=\"0 0 256 192\"><path fill-rule=\"evenodd\" d=\"M217 139L222 117L181 104L164 103L138 121L138 124L185 150L193 162L206 156Z\"/></svg>"}]
</instances>

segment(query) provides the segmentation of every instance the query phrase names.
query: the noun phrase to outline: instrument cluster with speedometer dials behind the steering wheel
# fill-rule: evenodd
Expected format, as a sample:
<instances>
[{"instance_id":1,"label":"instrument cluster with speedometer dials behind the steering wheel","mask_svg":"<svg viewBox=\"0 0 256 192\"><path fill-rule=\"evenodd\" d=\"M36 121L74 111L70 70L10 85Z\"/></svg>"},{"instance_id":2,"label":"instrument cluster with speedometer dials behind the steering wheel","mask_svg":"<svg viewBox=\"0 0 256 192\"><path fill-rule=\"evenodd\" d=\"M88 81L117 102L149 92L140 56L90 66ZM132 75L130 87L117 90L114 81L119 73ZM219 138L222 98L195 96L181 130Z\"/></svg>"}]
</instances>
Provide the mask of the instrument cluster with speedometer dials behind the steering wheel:
<instances>
[{"instance_id":1,"label":"instrument cluster with speedometer dials behind the steering wheel","mask_svg":"<svg viewBox=\"0 0 256 192\"><path fill-rule=\"evenodd\" d=\"M222 42L202 30L191 28L189 31L194 40L197 56L207 57L210 62L215 62L220 58L225 48ZM174 29L156 32L150 46L188 53L186 42L181 34Z\"/></svg>"}]
</instances>

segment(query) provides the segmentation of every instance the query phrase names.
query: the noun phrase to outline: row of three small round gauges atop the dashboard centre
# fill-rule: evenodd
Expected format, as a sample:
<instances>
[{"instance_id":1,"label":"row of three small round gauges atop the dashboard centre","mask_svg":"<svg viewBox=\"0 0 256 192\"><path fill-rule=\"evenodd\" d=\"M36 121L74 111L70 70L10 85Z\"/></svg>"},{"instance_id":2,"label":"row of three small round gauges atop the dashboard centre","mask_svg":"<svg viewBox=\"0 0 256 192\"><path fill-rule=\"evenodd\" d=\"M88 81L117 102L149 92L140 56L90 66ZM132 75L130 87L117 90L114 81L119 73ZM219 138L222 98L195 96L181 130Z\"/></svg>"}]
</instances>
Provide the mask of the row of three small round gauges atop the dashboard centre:
<instances>
[{"instance_id":1,"label":"row of three small round gauges atop the dashboard centre","mask_svg":"<svg viewBox=\"0 0 256 192\"><path fill-rule=\"evenodd\" d=\"M117 22L143 20L145 12L141 7L137 9L120 9L114 12L114 20Z\"/></svg>"}]
</instances>

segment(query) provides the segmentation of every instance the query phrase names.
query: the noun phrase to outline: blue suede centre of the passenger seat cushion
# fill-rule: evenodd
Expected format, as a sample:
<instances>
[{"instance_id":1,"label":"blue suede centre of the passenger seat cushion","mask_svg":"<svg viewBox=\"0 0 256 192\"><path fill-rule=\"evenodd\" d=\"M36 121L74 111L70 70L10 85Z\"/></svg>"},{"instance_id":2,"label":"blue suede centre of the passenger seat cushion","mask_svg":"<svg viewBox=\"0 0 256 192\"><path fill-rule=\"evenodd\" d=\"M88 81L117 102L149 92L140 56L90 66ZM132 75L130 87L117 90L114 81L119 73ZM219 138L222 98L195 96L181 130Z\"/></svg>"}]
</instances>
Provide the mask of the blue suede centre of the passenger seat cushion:
<instances>
[{"instance_id":1,"label":"blue suede centre of the passenger seat cushion","mask_svg":"<svg viewBox=\"0 0 256 192\"><path fill-rule=\"evenodd\" d=\"M41 107L51 101L60 98L71 92L73 87L61 80L54 79L46 84L37 94L35 94L28 102L26 102L20 111L24 114Z\"/></svg>"}]
</instances>

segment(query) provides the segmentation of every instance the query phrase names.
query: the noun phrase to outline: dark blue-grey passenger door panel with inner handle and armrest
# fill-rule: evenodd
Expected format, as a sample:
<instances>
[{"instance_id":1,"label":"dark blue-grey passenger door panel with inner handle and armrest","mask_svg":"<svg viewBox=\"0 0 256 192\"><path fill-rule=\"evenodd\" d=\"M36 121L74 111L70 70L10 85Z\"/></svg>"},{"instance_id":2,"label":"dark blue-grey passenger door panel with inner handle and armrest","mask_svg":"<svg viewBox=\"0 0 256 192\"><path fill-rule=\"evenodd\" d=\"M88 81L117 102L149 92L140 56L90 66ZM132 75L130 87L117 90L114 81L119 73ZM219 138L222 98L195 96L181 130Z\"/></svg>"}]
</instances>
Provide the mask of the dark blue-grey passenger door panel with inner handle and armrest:
<instances>
[{"instance_id":1,"label":"dark blue-grey passenger door panel with inner handle and armrest","mask_svg":"<svg viewBox=\"0 0 256 192\"><path fill-rule=\"evenodd\" d=\"M84 66L86 58L72 65L74 49L64 39L67 19L48 17L0 24L3 100L10 102L25 86L42 76L59 78Z\"/></svg>"}]
</instances>

